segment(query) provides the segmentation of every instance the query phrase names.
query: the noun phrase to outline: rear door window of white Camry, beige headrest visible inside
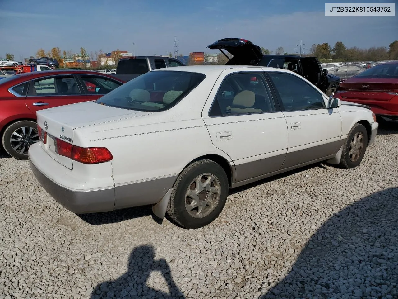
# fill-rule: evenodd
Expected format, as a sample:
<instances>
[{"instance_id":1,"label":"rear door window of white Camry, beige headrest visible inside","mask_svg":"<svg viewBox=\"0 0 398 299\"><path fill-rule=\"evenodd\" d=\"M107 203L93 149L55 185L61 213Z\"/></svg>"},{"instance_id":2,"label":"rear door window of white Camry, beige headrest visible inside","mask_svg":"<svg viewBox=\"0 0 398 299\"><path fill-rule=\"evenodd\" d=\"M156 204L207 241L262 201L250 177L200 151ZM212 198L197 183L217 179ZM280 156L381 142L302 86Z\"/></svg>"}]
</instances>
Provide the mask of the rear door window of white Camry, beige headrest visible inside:
<instances>
[{"instance_id":1,"label":"rear door window of white Camry, beige headrest visible inside","mask_svg":"<svg viewBox=\"0 0 398 299\"><path fill-rule=\"evenodd\" d=\"M261 73L229 75L221 83L209 116L275 111L269 89Z\"/></svg>"}]
</instances>

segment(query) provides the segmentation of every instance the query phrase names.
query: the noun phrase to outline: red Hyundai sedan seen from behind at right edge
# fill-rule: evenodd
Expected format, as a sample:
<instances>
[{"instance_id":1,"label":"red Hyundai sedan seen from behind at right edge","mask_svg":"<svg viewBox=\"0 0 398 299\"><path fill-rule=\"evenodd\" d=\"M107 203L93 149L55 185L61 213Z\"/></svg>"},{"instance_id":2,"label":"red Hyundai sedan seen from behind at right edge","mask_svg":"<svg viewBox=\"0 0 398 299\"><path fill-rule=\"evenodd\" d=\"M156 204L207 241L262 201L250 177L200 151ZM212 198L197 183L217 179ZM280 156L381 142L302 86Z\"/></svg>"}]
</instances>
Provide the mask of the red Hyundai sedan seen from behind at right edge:
<instances>
[{"instance_id":1,"label":"red Hyundai sedan seen from behind at right edge","mask_svg":"<svg viewBox=\"0 0 398 299\"><path fill-rule=\"evenodd\" d=\"M340 83L335 98L370 106L386 121L398 121L398 61L375 65Z\"/></svg>"}]
</instances>

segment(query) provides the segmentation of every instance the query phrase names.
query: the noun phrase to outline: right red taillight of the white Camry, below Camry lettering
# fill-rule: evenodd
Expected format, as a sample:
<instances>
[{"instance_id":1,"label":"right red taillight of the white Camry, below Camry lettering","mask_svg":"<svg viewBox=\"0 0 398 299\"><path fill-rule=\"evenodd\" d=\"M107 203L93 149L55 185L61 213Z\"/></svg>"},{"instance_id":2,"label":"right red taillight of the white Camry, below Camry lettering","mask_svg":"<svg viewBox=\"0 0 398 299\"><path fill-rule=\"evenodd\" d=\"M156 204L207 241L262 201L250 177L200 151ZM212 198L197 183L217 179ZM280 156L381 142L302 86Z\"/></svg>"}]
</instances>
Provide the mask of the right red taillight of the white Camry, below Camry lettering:
<instances>
[{"instance_id":1,"label":"right red taillight of the white Camry, below Camry lettering","mask_svg":"<svg viewBox=\"0 0 398 299\"><path fill-rule=\"evenodd\" d=\"M55 138L55 152L84 164L111 161L113 156L107 148L82 148Z\"/></svg>"}]
</instances>

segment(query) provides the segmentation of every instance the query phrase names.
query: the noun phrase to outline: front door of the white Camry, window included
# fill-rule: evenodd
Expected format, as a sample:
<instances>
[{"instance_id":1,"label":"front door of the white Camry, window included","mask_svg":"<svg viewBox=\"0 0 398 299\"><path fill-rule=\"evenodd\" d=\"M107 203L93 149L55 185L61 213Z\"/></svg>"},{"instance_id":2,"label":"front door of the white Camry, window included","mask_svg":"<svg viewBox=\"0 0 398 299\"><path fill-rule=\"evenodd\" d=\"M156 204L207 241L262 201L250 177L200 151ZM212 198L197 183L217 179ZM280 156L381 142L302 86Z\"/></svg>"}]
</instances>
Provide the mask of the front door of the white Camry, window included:
<instances>
[{"instance_id":1,"label":"front door of the white Camry, window included","mask_svg":"<svg viewBox=\"0 0 398 299\"><path fill-rule=\"evenodd\" d=\"M288 126L288 149L282 168L334 154L341 146L341 118L327 108L327 98L299 76L267 72Z\"/></svg>"}]
</instances>

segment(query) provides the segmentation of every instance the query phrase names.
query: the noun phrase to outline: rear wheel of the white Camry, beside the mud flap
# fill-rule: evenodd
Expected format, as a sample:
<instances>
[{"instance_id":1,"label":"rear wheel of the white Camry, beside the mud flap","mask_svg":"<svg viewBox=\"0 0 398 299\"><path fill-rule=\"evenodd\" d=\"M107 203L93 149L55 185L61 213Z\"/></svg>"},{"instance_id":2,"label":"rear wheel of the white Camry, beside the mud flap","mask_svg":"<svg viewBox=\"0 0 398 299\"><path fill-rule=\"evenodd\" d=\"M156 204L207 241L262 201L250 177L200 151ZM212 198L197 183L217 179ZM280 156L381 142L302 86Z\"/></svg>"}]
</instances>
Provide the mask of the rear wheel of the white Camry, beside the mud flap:
<instances>
[{"instance_id":1,"label":"rear wheel of the white Camry, beside the mud flap","mask_svg":"<svg viewBox=\"0 0 398 299\"><path fill-rule=\"evenodd\" d=\"M185 228L201 228L219 216L228 190L228 177L219 164L208 159L193 162L178 176L167 213Z\"/></svg>"}]
</instances>

